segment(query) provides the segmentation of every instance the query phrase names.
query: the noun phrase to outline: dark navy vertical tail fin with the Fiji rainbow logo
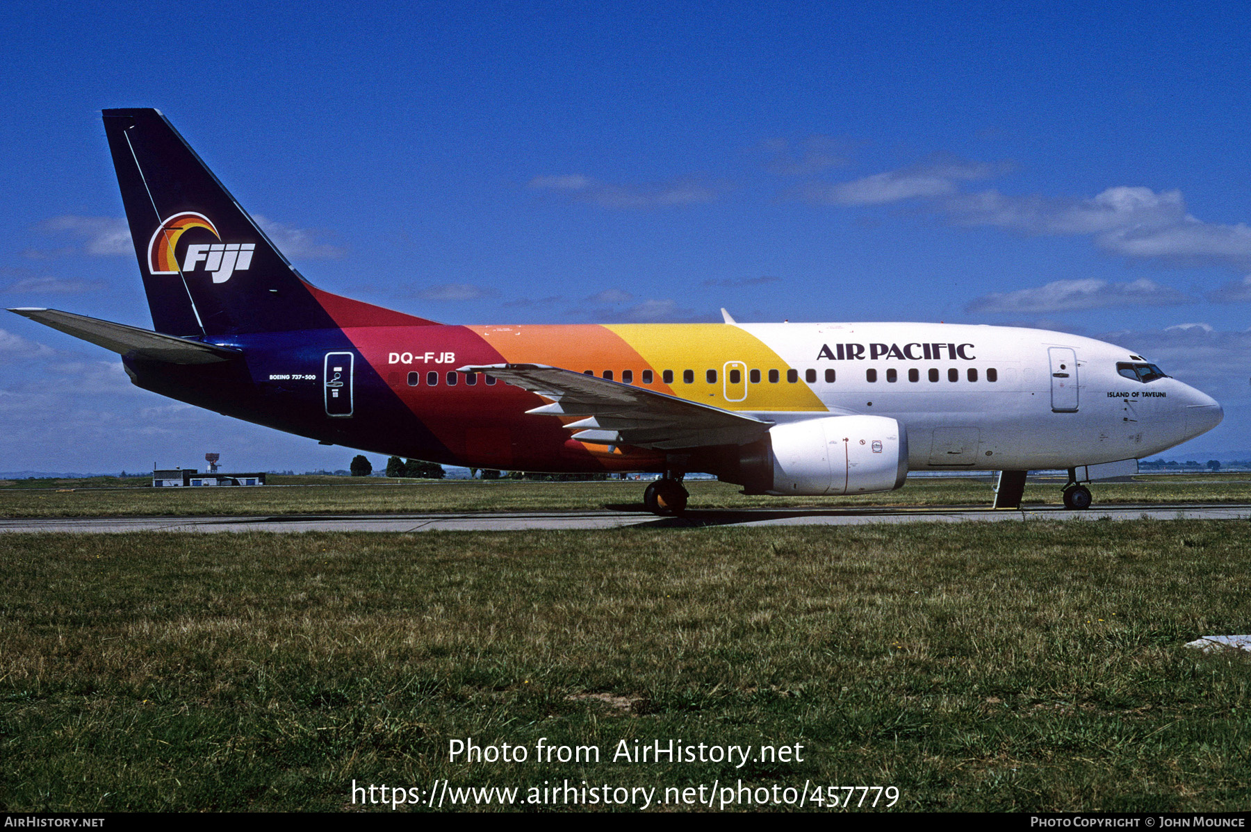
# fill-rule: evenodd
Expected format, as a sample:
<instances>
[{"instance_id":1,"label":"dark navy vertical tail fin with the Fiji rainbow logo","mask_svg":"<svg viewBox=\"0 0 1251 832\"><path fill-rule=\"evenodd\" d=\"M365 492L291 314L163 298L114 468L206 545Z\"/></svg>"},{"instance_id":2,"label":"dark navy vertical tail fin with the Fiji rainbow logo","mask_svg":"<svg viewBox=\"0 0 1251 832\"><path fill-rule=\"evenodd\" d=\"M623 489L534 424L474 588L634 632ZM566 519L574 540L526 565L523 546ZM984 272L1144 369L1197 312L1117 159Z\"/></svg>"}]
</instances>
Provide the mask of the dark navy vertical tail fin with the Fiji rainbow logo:
<instances>
[{"instance_id":1,"label":"dark navy vertical tail fin with the Fiji rainbow logo","mask_svg":"<svg viewBox=\"0 0 1251 832\"><path fill-rule=\"evenodd\" d=\"M158 332L432 322L311 286L159 110L105 110L104 130Z\"/></svg>"}]
</instances>

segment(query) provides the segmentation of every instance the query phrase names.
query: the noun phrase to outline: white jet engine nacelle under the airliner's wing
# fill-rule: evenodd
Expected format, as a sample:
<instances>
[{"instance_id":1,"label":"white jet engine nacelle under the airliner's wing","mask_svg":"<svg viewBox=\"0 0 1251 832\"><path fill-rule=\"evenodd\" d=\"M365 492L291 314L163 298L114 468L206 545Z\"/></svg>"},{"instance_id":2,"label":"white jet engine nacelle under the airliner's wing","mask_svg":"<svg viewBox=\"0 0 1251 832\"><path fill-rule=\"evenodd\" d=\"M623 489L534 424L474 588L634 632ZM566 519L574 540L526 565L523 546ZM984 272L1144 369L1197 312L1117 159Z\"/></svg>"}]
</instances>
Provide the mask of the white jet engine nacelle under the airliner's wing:
<instances>
[{"instance_id":1,"label":"white jet engine nacelle under the airliner's wing","mask_svg":"<svg viewBox=\"0 0 1251 832\"><path fill-rule=\"evenodd\" d=\"M841 495L893 491L908 473L908 435L884 416L827 416L774 425L743 448L748 493Z\"/></svg>"}]
</instances>

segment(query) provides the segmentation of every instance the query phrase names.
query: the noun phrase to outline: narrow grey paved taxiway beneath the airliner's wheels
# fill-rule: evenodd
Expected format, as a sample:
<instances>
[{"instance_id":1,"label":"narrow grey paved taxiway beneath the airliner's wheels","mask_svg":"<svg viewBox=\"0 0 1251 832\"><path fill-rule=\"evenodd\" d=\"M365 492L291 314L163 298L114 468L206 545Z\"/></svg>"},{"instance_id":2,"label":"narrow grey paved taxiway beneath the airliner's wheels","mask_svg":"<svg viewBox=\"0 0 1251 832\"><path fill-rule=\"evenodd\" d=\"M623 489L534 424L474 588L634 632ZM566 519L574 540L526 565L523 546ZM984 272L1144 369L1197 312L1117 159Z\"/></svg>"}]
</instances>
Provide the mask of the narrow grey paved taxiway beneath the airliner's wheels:
<instances>
[{"instance_id":1,"label":"narrow grey paved taxiway beneath the airliner's wheels","mask_svg":"<svg viewBox=\"0 0 1251 832\"><path fill-rule=\"evenodd\" d=\"M529 513L413 513L280 517L59 517L0 520L0 532L304 532L304 531L518 531L548 528L682 528L693 526L858 526L911 522L1030 522L1040 520L1251 520L1251 505L1061 506L1023 510L942 508L747 508L689 511L657 517L632 511L552 511Z\"/></svg>"}]
</instances>

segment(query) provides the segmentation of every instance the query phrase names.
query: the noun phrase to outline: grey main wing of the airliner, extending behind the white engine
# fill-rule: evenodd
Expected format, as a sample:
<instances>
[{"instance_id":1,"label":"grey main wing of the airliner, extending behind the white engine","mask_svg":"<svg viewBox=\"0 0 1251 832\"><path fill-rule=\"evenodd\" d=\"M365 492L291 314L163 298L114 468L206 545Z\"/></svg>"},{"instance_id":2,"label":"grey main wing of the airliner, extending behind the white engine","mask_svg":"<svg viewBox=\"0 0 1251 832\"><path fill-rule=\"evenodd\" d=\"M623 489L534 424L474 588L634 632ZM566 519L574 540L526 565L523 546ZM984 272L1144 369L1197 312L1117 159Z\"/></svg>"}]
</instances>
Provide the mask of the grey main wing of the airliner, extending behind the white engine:
<instances>
[{"instance_id":1,"label":"grey main wing of the airliner, extending behind the white engine","mask_svg":"<svg viewBox=\"0 0 1251 832\"><path fill-rule=\"evenodd\" d=\"M659 450L746 445L773 426L721 407L542 364L477 365L459 372L487 372L552 400L528 414L582 416L565 425L582 442Z\"/></svg>"}]
</instances>

